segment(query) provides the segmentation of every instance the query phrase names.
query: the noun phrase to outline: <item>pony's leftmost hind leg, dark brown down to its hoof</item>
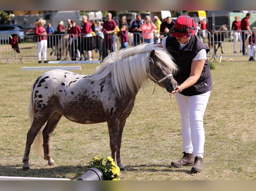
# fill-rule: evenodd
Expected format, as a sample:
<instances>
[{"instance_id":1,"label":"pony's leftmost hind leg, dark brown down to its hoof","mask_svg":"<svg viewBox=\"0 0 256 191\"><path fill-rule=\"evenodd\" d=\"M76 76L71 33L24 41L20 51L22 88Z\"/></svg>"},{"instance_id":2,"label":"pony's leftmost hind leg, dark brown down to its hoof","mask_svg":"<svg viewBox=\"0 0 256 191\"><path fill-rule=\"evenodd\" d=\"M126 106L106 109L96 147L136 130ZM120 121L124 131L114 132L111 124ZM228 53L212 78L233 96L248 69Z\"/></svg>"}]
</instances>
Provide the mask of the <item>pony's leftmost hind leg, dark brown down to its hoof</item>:
<instances>
[{"instance_id":1,"label":"pony's leftmost hind leg, dark brown down to its hoof","mask_svg":"<svg viewBox=\"0 0 256 191\"><path fill-rule=\"evenodd\" d=\"M41 129L41 127L44 125L45 122L46 122L46 120L33 120L33 123L27 133L25 154L22 159L23 170L29 170L28 160L29 160L29 153L30 153L31 145L34 142L37 133L39 132L39 130Z\"/></svg>"}]
</instances>

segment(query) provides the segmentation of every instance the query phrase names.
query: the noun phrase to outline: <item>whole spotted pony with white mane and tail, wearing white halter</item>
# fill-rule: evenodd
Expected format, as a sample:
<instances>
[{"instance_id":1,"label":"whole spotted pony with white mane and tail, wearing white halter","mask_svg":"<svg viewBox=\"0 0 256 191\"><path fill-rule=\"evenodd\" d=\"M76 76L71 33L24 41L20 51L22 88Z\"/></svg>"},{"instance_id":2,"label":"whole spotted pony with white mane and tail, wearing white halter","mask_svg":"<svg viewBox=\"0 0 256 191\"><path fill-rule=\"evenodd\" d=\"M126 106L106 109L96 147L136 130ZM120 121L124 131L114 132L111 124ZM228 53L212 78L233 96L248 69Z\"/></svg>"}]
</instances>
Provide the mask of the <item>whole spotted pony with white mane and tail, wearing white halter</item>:
<instances>
[{"instance_id":1,"label":"whole spotted pony with white mane and tail, wearing white halter","mask_svg":"<svg viewBox=\"0 0 256 191\"><path fill-rule=\"evenodd\" d=\"M172 73L176 71L176 65L165 49L157 44L141 44L111 53L92 75L64 70L44 73L32 86L29 102L31 126L27 133L23 169L29 169L33 142L37 143L35 147L43 150L48 164L56 165L50 155L49 139L64 115L82 124L107 121L111 157L124 170L120 159L122 132L135 96L150 79L168 92L173 91L177 82Z\"/></svg>"}]
</instances>

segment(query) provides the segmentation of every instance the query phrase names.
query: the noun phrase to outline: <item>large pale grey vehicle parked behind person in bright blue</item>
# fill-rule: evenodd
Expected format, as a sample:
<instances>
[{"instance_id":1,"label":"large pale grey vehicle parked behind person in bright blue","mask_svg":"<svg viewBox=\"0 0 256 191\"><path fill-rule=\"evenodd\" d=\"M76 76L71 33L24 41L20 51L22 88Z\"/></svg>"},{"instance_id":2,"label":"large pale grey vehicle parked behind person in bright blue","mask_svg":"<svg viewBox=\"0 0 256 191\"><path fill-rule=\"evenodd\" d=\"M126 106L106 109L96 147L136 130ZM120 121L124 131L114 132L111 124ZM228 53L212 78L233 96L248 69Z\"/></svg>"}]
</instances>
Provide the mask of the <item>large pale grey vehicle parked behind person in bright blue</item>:
<instances>
[{"instance_id":1,"label":"large pale grey vehicle parked behind person in bright blue","mask_svg":"<svg viewBox=\"0 0 256 191\"><path fill-rule=\"evenodd\" d=\"M53 11L43 14L43 19L46 20L45 28L48 23L51 24L54 31L57 31L59 21L64 22L64 26L67 24L67 19L75 20L78 26L81 26L82 17L80 11Z\"/></svg>"}]
</instances>

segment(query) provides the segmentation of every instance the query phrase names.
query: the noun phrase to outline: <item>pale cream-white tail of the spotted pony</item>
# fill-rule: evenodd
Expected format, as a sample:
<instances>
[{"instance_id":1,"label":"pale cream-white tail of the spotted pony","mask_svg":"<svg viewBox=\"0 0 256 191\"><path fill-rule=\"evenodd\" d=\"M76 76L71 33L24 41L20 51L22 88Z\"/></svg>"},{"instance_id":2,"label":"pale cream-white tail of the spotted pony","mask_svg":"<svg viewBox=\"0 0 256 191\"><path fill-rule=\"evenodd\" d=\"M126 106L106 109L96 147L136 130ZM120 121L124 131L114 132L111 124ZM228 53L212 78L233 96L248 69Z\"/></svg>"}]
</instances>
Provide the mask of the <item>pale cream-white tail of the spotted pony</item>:
<instances>
[{"instance_id":1,"label":"pale cream-white tail of the spotted pony","mask_svg":"<svg viewBox=\"0 0 256 191\"><path fill-rule=\"evenodd\" d=\"M33 123L34 119L34 107L32 104L32 94L30 96L29 105L28 105L28 121L29 121L29 127L31 128L31 125ZM38 155L44 155L43 153L43 128L40 129L40 131L37 133L35 140L33 142L34 149Z\"/></svg>"}]
</instances>

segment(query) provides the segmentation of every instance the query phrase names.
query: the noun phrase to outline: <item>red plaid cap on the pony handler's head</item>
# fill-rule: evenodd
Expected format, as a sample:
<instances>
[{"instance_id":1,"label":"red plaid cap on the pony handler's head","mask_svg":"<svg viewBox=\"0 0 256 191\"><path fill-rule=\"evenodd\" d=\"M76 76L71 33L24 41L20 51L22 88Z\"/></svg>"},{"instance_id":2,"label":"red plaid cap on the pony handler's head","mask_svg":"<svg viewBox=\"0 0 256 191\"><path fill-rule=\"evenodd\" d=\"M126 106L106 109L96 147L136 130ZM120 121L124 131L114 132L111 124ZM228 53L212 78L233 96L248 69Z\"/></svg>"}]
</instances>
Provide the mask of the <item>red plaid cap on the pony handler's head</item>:
<instances>
[{"instance_id":1,"label":"red plaid cap on the pony handler's head","mask_svg":"<svg viewBox=\"0 0 256 191\"><path fill-rule=\"evenodd\" d=\"M171 28L171 34L177 38L187 38L193 36L197 32L197 25L194 19L188 15L179 16L175 25Z\"/></svg>"}]
</instances>

